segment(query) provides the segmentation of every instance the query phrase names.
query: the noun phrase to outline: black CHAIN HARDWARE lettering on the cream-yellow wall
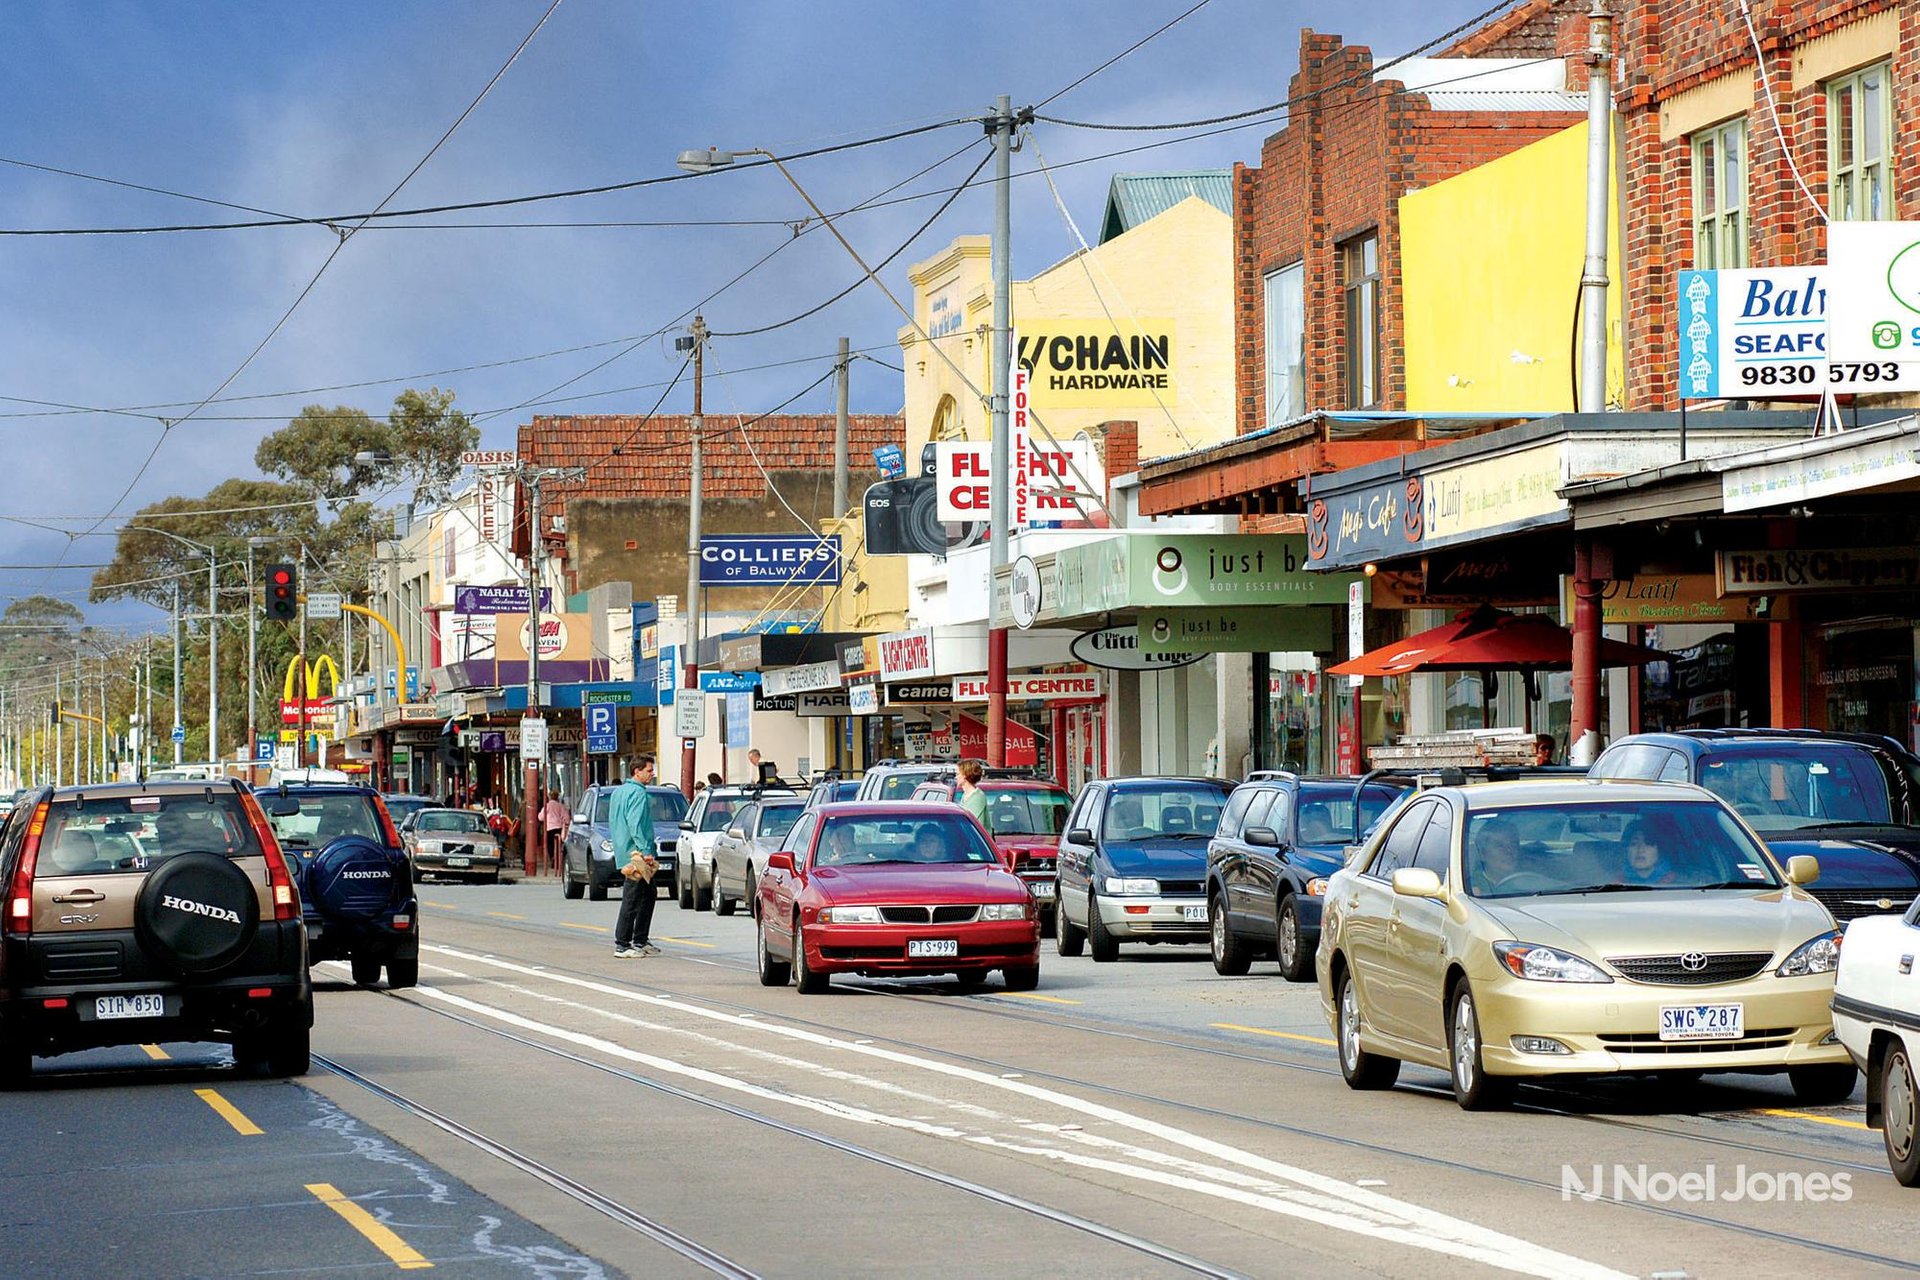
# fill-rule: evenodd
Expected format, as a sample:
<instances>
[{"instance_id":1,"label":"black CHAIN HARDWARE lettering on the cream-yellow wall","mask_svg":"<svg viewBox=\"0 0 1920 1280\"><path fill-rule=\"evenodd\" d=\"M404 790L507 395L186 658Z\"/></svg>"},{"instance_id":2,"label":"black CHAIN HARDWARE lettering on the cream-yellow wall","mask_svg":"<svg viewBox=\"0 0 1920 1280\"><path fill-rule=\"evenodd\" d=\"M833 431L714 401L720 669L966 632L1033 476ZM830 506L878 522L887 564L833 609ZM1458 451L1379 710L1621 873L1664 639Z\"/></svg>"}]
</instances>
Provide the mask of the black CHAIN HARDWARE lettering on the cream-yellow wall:
<instances>
[{"instance_id":1,"label":"black CHAIN HARDWARE lettering on the cream-yellow wall","mask_svg":"<svg viewBox=\"0 0 1920 1280\"><path fill-rule=\"evenodd\" d=\"M1037 409L1114 409L1173 401L1173 320L1033 320L1018 359L1033 370Z\"/></svg>"}]
</instances>

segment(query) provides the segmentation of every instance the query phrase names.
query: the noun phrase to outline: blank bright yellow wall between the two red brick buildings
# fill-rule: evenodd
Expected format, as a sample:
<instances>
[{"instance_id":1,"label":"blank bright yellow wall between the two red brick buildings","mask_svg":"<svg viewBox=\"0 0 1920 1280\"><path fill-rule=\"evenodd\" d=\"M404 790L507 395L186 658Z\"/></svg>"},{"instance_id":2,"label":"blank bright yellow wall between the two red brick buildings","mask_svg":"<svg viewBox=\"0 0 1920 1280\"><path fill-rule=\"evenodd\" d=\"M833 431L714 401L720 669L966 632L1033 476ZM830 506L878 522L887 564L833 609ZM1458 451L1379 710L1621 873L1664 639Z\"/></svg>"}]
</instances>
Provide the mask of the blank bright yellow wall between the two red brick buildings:
<instances>
[{"instance_id":1,"label":"blank bright yellow wall between the two red brick buildings","mask_svg":"<svg viewBox=\"0 0 1920 1280\"><path fill-rule=\"evenodd\" d=\"M1619 403L1619 184L1609 198L1607 399ZM1571 342L1584 257L1584 123L1402 196L1407 409L1572 409Z\"/></svg>"}]
</instances>

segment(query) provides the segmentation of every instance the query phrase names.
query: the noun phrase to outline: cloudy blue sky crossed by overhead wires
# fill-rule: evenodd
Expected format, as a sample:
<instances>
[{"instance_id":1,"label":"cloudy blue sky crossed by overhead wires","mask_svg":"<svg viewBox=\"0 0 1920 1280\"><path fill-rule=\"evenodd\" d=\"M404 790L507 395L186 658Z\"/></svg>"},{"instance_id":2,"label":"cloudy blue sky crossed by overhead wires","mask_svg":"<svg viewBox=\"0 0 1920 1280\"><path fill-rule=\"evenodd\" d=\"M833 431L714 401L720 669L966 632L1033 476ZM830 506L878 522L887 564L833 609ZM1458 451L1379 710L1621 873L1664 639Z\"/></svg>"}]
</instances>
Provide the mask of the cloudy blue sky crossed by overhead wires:
<instances>
[{"instance_id":1,"label":"cloudy blue sky crossed by overhead wires","mask_svg":"<svg viewBox=\"0 0 1920 1280\"><path fill-rule=\"evenodd\" d=\"M697 146L791 152L983 113L995 94L1033 104L1190 8L1192 0L1043 0L995 10L922 0L743 0L657 4L564 0L520 59L392 207L492 200L674 173ZM1127 59L1052 104L1087 121L1181 121L1286 96L1302 27L1344 35L1377 58L1425 42L1486 8L1480 0L1212 0ZM292 215L371 209L472 102L534 27L545 2L342 0L336 4L8 6L0 157ZM1094 238L1108 178L1127 169L1225 167L1258 157L1271 125L1208 138L1039 127L1037 142L1081 230ZM977 127L803 161L828 209L858 203L979 138ZM1167 142L1123 157L1104 152ZM977 152L899 194L952 186ZM1089 163L1071 163L1089 161ZM1033 155L1018 155L1016 175ZM1014 273L1044 269L1075 240L1037 178L1014 184ZM877 261L941 198L845 221ZM639 344L559 395L618 345L515 361L649 334L789 238L783 226L453 228L453 223L636 223L799 219L776 173L733 173L637 192L417 219L432 226L355 234L286 326L209 405L167 432L119 518L173 493L250 476L259 436L305 403L384 416L407 386L440 384L482 418L484 443L511 447L534 413L643 413L678 359L670 338ZM142 226L252 217L171 196L0 165L0 226ZM956 234L991 230L985 186L964 192L885 273ZM94 409L159 405L146 416L35 415L0 401L8 480L0 516L63 524L104 516L161 436L265 338L334 248L315 226L148 236L0 238L0 395ZM812 307L858 269L808 234L707 305L716 330L745 330ZM899 319L866 286L822 315L712 345L708 413L780 403L829 367L839 336L897 361ZM804 361L755 372L774 361ZM735 372L737 370L737 372ZM288 393L349 382L355 390ZM676 390L666 411L685 411ZM856 363L852 405L900 407L900 374ZM831 411L822 386L793 407ZM238 420L236 420L238 418ZM119 518L106 524L111 530ZM0 564L42 564L67 537L0 522ZM67 558L111 557L109 537L75 539ZM84 601L88 570L0 568L0 606L48 591ZM159 626L146 608L92 610L117 626Z\"/></svg>"}]
</instances>

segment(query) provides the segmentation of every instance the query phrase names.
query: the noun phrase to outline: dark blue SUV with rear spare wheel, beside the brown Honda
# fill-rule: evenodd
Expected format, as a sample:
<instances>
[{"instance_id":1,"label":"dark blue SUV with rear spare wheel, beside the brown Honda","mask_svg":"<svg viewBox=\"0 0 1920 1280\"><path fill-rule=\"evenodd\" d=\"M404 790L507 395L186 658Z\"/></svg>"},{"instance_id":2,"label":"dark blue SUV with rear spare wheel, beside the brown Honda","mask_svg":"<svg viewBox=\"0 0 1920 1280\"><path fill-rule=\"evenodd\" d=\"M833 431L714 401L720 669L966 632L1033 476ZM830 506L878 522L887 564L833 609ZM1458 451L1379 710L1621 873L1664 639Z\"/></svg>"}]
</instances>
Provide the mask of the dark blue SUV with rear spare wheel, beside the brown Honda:
<instances>
[{"instance_id":1,"label":"dark blue SUV with rear spare wheel, beside the brown Honda","mask_svg":"<svg viewBox=\"0 0 1920 1280\"><path fill-rule=\"evenodd\" d=\"M420 904L394 819L372 787L271 787L257 794L307 919L307 958L346 960L353 983L420 981Z\"/></svg>"}]
</instances>

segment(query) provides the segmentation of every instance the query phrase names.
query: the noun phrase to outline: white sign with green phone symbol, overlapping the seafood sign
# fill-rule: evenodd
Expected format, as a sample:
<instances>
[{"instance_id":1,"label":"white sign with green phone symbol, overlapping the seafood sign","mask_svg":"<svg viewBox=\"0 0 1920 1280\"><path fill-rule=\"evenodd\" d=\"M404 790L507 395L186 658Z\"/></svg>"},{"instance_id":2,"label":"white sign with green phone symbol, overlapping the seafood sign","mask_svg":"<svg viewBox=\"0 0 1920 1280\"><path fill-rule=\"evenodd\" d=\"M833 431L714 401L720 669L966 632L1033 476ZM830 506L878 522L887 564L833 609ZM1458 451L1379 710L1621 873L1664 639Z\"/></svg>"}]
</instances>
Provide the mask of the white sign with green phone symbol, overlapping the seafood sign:
<instances>
[{"instance_id":1,"label":"white sign with green phone symbol, overlapping the seafood sign","mask_svg":"<svg viewBox=\"0 0 1920 1280\"><path fill-rule=\"evenodd\" d=\"M1828 388L1920 391L1920 223L1826 228Z\"/></svg>"}]
</instances>

